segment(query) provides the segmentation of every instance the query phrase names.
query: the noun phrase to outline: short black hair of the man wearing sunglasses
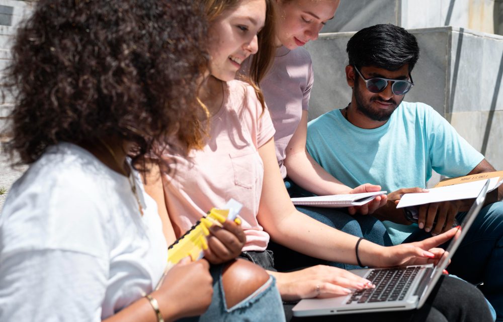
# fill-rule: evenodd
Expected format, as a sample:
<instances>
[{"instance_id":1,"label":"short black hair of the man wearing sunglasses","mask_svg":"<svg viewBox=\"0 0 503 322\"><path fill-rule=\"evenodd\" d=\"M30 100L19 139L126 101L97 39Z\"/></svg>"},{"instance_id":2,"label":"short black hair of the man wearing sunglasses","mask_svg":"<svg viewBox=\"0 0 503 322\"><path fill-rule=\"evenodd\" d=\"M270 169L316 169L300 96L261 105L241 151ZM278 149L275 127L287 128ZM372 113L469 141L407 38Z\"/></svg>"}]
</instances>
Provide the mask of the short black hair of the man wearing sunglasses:
<instances>
[{"instance_id":1,"label":"short black hair of the man wearing sunglasses","mask_svg":"<svg viewBox=\"0 0 503 322\"><path fill-rule=\"evenodd\" d=\"M409 64L409 72L419 58L414 35L391 24L375 25L357 32L348 41L349 64L397 70Z\"/></svg>"}]
</instances>

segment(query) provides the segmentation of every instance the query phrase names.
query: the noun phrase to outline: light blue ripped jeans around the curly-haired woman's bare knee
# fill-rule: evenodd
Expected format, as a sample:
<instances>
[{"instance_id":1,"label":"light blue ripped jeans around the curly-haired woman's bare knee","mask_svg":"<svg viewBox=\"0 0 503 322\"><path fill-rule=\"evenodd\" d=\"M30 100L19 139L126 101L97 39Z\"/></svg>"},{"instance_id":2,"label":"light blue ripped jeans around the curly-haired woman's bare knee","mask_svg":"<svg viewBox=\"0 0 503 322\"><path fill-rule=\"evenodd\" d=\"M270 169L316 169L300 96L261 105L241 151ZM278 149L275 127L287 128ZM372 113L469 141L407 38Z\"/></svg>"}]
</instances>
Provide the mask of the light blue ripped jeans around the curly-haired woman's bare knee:
<instances>
[{"instance_id":1,"label":"light blue ripped jeans around the curly-haired woman's bare knee","mask_svg":"<svg viewBox=\"0 0 503 322\"><path fill-rule=\"evenodd\" d=\"M225 292L222 283L223 265L211 265L213 277L213 297L211 304L203 315L186 317L183 322L215 322L215 321L285 321L280 293L273 276L253 294L228 308L225 303ZM187 299L188 301L190 299Z\"/></svg>"}]
</instances>

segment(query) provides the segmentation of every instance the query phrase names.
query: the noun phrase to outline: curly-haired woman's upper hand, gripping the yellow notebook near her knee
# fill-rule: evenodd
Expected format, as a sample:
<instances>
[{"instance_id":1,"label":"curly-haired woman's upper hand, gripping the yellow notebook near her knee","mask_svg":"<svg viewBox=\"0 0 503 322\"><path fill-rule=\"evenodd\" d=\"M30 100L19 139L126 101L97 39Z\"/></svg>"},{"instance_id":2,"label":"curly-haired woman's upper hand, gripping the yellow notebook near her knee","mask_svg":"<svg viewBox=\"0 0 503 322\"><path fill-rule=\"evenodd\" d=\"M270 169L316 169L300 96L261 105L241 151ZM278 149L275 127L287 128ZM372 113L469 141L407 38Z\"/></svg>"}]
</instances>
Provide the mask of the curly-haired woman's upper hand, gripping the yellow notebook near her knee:
<instances>
[{"instance_id":1,"label":"curly-haired woman's upper hand, gripping the yellow notebook near her knee","mask_svg":"<svg viewBox=\"0 0 503 322\"><path fill-rule=\"evenodd\" d=\"M204 257L212 264L221 264L236 258L246 242L246 236L240 225L226 220L222 227L213 225L208 236L208 249Z\"/></svg>"}]
</instances>

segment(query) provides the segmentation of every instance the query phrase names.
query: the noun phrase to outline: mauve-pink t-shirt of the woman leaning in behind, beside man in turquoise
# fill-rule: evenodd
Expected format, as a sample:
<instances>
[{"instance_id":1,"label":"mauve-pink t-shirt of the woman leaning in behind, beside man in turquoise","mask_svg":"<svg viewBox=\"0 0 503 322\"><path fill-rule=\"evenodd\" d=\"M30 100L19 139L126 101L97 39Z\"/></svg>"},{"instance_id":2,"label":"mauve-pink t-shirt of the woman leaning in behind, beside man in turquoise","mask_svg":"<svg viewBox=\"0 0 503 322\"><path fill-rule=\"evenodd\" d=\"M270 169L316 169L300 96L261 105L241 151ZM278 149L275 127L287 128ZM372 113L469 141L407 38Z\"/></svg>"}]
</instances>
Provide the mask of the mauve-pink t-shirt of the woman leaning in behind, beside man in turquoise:
<instances>
[{"instance_id":1,"label":"mauve-pink t-shirt of the woman leaning in behind, beside man in turquoise","mask_svg":"<svg viewBox=\"0 0 503 322\"><path fill-rule=\"evenodd\" d=\"M273 66L260 84L276 129L274 143L283 178L287 175L283 165L286 147L297 130L302 111L308 110L313 80L309 52L303 47L289 50L282 46L276 50Z\"/></svg>"}]
</instances>

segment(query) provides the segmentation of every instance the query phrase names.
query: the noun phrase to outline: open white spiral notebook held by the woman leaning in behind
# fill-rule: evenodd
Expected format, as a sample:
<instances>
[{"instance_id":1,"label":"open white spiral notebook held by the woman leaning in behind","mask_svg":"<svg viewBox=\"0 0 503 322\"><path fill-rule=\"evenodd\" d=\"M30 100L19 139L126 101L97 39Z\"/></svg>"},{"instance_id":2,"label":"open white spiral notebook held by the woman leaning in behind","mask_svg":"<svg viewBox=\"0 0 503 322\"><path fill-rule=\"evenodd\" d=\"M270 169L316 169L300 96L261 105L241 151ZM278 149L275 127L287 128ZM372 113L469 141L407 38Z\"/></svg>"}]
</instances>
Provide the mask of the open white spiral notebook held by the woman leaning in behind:
<instances>
[{"instance_id":1,"label":"open white spiral notebook held by the woman leaning in behind","mask_svg":"<svg viewBox=\"0 0 503 322\"><path fill-rule=\"evenodd\" d=\"M333 194L333 195L301 197L291 199L293 204L296 205L340 208L350 206L361 206L367 202L370 202L375 197L381 194L386 194L386 191L351 193L351 194Z\"/></svg>"}]
</instances>

